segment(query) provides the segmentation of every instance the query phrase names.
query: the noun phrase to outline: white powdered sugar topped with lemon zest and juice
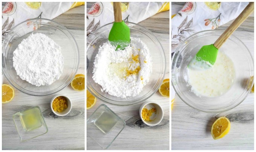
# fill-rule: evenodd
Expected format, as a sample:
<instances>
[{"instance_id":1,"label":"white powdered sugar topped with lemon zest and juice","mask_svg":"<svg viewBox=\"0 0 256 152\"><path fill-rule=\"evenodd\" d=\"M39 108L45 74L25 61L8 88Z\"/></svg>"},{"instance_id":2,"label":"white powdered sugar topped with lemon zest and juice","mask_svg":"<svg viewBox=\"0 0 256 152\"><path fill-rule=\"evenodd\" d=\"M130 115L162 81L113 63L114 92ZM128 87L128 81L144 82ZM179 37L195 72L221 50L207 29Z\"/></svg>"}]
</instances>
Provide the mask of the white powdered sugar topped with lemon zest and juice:
<instances>
[{"instance_id":1,"label":"white powdered sugar topped with lemon zest and juice","mask_svg":"<svg viewBox=\"0 0 256 152\"><path fill-rule=\"evenodd\" d=\"M102 91L128 98L138 95L152 73L150 52L139 38L131 37L125 50L115 50L110 42L99 47L94 60L93 80Z\"/></svg>"}]
</instances>

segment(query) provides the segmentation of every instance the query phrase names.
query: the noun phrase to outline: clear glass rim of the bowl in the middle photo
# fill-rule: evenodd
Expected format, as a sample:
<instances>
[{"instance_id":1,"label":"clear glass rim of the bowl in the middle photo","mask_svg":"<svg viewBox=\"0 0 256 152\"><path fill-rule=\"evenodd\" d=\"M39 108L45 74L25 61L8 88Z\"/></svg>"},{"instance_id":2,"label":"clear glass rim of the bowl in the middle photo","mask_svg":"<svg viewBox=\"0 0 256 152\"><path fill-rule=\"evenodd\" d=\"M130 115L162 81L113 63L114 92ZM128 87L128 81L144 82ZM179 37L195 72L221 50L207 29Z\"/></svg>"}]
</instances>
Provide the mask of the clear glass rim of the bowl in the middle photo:
<instances>
[{"instance_id":1,"label":"clear glass rim of the bowl in the middle photo","mask_svg":"<svg viewBox=\"0 0 256 152\"><path fill-rule=\"evenodd\" d=\"M99 30L101 30L101 29L103 29L104 27L109 26L109 25L111 25L111 24L113 24L113 23L114 23L114 22L105 24L104 26L101 26L101 27L99 27L98 29L96 29L93 33L97 33ZM164 49L163 49L162 44L160 43L160 41L158 40L158 38L157 38L150 30L146 29L145 27L140 26L139 24L136 24L136 23L133 23L133 22L125 22L125 23L127 23L127 24L133 24L133 26L138 26L138 27L142 28L143 30L146 30L150 35L154 36L154 38L157 40L157 43L160 44L160 48L161 48L162 53L163 53L163 63L164 63L164 65L163 65L163 66L164 66L163 77L162 77L162 80L161 80L161 82L163 82L163 80L164 80L164 78L165 78L165 74L166 74L166 55L165 55L165 51L164 51ZM89 36L93 35L93 33L90 33L90 35L88 35L87 38L88 38ZM146 35L146 36L148 36L148 35ZM148 37L149 37L149 36L148 36ZM88 50L89 47L90 47L90 45L87 45L87 50ZM87 56L86 56L86 57L87 57ZM88 59L88 58L87 58L87 59ZM88 70L88 68L87 68L87 70ZM88 83L88 79L87 79L87 83ZM87 83L86 83L86 84L87 84ZM162 84L162 83L159 83L158 86L157 86L157 88L159 88L159 87L161 86L161 84ZM108 99L108 98L105 98L105 97L102 96L102 95L98 96L98 95L96 95L96 93L94 93L94 89L93 89L91 86L88 87L88 85L87 85L86 87L87 87L87 90L88 90L92 95L97 96L97 97L98 97L99 99L101 99L102 101L107 102L107 103L109 103L109 104L113 104L113 105L122 105L122 106L123 106L123 105L139 104L140 102L143 102L143 101L145 101L146 99L150 98L150 97L151 97L155 92L157 92L157 90L158 90L158 89L156 89L155 91L153 91L153 92L151 93L151 95L148 95L148 96L146 96L146 97L142 96L142 97L140 97L140 98L138 98L138 99L135 99L135 100L133 100L133 101L125 101L125 102L123 102L123 101L114 101L114 100L110 100L110 99ZM91 88L92 88L93 90L91 90ZM143 97L144 97L144 98L143 98ZM113 101L114 101L114 102L113 102Z\"/></svg>"}]
</instances>

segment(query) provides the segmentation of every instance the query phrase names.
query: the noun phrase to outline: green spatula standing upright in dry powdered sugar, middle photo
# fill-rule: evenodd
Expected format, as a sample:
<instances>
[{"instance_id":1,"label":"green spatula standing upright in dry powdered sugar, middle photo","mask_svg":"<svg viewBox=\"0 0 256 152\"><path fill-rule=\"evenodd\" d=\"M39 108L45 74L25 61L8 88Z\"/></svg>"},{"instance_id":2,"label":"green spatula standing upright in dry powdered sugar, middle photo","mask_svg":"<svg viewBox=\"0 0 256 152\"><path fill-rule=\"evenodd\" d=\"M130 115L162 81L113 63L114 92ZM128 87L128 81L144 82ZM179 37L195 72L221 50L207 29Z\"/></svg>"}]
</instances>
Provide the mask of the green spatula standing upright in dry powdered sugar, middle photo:
<instances>
[{"instance_id":1,"label":"green spatula standing upright in dry powdered sugar, middle photo","mask_svg":"<svg viewBox=\"0 0 256 152\"><path fill-rule=\"evenodd\" d=\"M113 2L114 24L108 35L111 45L124 50L130 44L130 28L122 21L121 2Z\"/></svg>"}]
</instances>

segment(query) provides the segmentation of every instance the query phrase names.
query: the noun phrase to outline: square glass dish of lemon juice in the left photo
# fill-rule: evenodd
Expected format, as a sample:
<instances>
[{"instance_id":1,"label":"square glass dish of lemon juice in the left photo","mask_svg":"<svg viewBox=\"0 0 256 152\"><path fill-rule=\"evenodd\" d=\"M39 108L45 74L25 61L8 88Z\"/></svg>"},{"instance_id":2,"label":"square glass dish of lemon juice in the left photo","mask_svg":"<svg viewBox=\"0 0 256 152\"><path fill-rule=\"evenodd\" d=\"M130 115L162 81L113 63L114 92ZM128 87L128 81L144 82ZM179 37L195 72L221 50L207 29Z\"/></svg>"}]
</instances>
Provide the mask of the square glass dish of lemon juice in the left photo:
<instances>
[{"instance_id":1,"label":"square glass dish of lemon juice in the left photo","mask_svg":"<svg viewBox=\"0 0 256 152\"><path fill-rule=\"evenodd\" d=\"M12 118L21 141L26 141L48 132L43 114L38 106L15 113Z\"/></svg>"}]
</instances>

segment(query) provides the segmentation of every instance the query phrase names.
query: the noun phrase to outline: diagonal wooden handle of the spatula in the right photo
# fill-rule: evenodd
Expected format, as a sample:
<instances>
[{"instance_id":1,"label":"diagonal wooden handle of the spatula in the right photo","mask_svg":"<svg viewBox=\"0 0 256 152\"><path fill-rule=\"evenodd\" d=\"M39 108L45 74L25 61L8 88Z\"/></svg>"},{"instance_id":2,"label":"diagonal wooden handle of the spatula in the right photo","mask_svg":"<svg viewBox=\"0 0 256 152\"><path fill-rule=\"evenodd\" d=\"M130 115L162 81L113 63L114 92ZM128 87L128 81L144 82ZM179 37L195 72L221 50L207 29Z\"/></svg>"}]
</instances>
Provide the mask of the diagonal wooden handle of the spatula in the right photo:
<instances>
[{"instance_id":1,"label":"diagonal wooden handle of the spatula in the right photo","mask_svg":"<svg viewBox=\"0 0 256 152\"><path fill-rule=\"evenodd\" d=\"M250 2L244 11L233 21L233 23L225 30L224 33L214 42L216 48L220 48L227 41L230 35L246 20L247 17L254 11L254 2Z\"/></svg>"}]
</instances>

